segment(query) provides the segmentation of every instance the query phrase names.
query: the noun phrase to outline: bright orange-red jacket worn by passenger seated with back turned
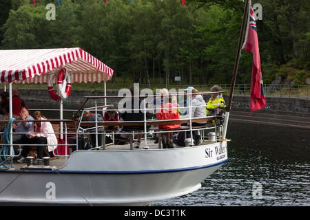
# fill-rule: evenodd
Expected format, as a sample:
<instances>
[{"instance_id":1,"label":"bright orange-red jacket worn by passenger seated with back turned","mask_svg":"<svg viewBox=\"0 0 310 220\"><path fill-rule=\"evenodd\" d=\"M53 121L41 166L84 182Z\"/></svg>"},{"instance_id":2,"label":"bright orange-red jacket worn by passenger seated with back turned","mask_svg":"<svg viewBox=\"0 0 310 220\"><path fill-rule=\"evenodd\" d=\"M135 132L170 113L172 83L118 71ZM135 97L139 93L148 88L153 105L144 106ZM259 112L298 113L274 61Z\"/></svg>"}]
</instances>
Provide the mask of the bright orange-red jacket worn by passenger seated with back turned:
<instances>
[{"instance_id":1,"label":"bright orange-red jacket worn by passenger seated with back turned","mask_svg":"<svg viewBox=\"0 0 310 220\"><path fill-rule=\"evenodd\" d=\"M167 103L161 106L156 113L157 120L175 120L180 119L178 115L178 109L174 107L172 104ZM180 124L163 124L158 125L158 129L178 129L180 128Z\"/></svg>"}]
</instances>

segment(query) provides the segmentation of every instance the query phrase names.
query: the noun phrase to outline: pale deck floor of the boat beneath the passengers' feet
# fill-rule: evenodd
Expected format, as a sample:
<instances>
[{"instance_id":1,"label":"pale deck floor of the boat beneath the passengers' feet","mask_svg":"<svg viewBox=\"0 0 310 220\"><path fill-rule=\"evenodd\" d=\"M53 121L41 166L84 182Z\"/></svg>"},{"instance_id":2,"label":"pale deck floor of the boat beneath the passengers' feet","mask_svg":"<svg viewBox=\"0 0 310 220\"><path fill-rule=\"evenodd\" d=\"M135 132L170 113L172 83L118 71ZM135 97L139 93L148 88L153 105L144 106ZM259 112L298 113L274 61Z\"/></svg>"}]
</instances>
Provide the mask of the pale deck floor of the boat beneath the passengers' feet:
<instances>
[{"instance_id":1,"label":"pale deck floor of the boat beneath the passengers' feet","mask_svg":"<svg viewBox=\"0 0 310 220\"><path fill-rule=\"evenodd\" d=\"M158 144L154 143L155 140L147 140L147 146L149 147L149 149L158 149ZM208 142L207 140L204 140L201 144L205 145L205 144L213 144L214 142ZM144 149L143 146L145 146L145 140L141 140L141 145L139 148L135 148L133 147L132 151L147 151L147 149ZM178 146L176 144L174 144L174 148L182 148L184 146ZM124 144L124 145L114 145L114 144L108 144L105 146L105 150L130 150L130 144ZM92 151L96 151L96 149L92 150ZM69 159L70 157L68 157ZM14 165L14 169L15 170L19 170L25 166L27 166L27 164L25 162L23 163L18 163L17 159L19 159L19 157L16 157L15 159L13 159L13 165ZM68 161L67 159L67 161ZM52 157L50 159L50 166L52 166L53 168L61 168L61 166L63 166L66 162L65 157ZM7 165L10 166L10 165ZM44 165L33 165L32 168L43 168ZM0 168L1 170L7 170L8 168L6 168L5 166L3 166L2 168Z\"/></svg>"}]
</instances>

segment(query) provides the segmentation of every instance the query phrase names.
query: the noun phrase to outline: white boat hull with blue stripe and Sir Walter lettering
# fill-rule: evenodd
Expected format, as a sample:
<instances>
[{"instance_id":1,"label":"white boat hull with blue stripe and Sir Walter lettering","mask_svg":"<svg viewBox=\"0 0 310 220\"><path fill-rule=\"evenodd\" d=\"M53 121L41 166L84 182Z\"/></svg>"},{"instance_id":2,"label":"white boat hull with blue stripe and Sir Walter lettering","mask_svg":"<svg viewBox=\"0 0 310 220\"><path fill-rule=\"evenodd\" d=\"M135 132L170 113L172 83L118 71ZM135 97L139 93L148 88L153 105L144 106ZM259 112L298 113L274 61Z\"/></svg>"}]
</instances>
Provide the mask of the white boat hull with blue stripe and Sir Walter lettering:
<instances>
[{"instance_id":1,"label":"white boat hull with blue stripe and Sir Walter lettering","mask_svg":"<svg viewBox=\"0 0 310 220\"><path fill-rule=\"evenodd\" d=\"M1 170L1 205L143 206L185 195L227 162L227 143L75 151L58 170Z\"/></svg>"}]
</instances>

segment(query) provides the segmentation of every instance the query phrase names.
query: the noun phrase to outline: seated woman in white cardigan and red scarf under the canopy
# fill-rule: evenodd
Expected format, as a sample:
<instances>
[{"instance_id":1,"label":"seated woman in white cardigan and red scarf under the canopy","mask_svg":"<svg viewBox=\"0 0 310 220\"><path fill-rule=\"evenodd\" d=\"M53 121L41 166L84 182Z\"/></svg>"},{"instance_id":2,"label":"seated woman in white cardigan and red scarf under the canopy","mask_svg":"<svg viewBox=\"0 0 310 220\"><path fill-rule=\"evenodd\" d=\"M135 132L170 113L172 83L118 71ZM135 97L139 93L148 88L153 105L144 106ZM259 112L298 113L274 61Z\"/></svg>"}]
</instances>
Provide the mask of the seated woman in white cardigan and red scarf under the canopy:
<instances>
[{"instance_id":1,"label":"seated woman in white cardigan and red scarf under the canopy","mask_svg":"<svg viewBox=\"0 0 310 220\"><path fill-rule=\"evenodd\" d=\"M54 134L54 129L50 122L44 122L46 118L41 114L41 111L34 111L34 120L40 120L39 122L32 123L31 129L27 133L28 140L25 140L25 144L38 144L37 145L37 159L34 160L34 164L43 164L43 150L44 145L48 146L48 151L54 151L57 147L57 139ZM23 146L21 152L21 159L17 162L22 163L27 157L30 151L30 146Z\"/></svg>"}]
</instances>

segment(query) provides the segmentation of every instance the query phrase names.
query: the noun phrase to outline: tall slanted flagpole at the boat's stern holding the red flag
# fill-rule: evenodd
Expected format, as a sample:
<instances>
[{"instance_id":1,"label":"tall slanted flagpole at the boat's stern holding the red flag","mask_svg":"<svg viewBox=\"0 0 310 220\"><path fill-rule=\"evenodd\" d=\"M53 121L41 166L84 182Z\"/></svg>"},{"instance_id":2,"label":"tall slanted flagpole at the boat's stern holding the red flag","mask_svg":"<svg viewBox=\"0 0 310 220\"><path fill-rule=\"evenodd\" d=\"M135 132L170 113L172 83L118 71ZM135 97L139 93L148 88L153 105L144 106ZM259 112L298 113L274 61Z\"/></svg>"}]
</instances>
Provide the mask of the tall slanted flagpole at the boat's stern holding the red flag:
<instances>
[{"instance_id":1,"label":"tall slanted flagpole at the boat's stern holding the red flag","mask_svg":"<svg viewBox=\"0 0 310 220\"><path fill-rule=\"evenodd\" d=\"M249 1L245 1L245 10L243 11L243 19L242 19L242 25L241 25L241 30L240 30L240 36L239 36L239 43L238 43L238 50L237 50L237 55L236 55L236 61L235 61L235 67L234 67L234 74L233 78L231 80L231 89L230 89L230 95L229 95L229 102L226 107L226 115L225 115L225 123L224 123L224 131L223 131L223 140L226 138L226 131L227 131L227 125L228 125L228 119L229 119L229 111L231 109L231 101L234 96L234 88L236 84L236 77L237 77L237 72L238 72L238 65L239 65L239 59L240 59L240 52L241 52L241 45L242 45L242 38L243 34L245 32L245 21L247 19L247 11L249 8Z\"/></svg>"}]
</instances>

